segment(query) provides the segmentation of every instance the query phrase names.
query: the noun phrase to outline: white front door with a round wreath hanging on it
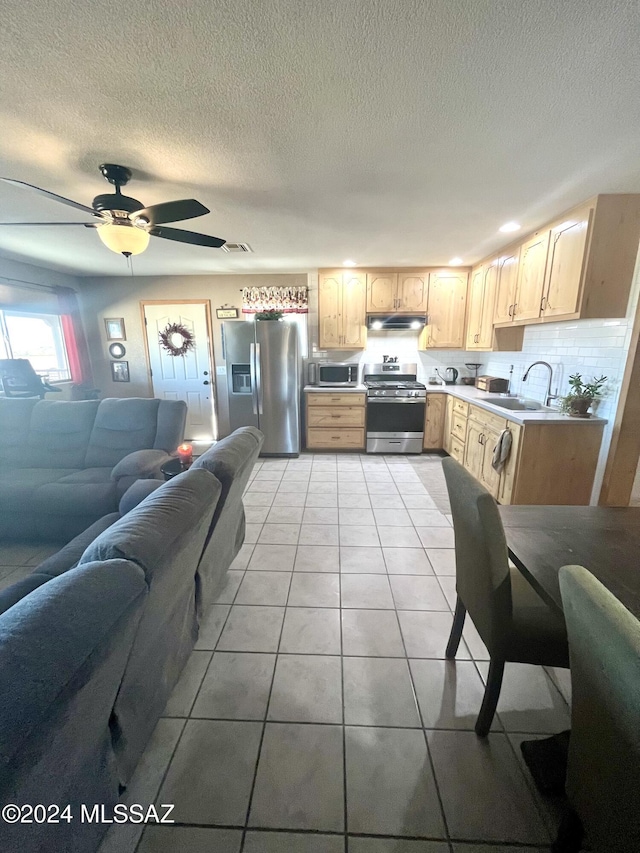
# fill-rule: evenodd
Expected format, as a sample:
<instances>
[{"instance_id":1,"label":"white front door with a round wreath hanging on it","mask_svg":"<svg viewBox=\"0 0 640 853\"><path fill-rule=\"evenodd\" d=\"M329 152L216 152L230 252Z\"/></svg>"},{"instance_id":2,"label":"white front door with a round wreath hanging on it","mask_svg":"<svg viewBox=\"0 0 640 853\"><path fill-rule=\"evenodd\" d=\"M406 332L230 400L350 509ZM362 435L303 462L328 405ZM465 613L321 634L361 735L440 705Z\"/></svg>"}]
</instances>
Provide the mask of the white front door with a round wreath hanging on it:
<instances>
[{"instance_id":1,"label":"white front door with a round wreath hanging on it","mask_svg":"<svg viewBox=\"0 0 640 853\"><path fill-rule=\"evenodd\" d=\"M144 316L154 397L184 400L189 407L185 440L212 441L218 430L206 304L145 305ZM170 323L181 323L193 334L195 347L184 356L172 356L160 345L160 333Z\"/></svg>"}]
</instances>

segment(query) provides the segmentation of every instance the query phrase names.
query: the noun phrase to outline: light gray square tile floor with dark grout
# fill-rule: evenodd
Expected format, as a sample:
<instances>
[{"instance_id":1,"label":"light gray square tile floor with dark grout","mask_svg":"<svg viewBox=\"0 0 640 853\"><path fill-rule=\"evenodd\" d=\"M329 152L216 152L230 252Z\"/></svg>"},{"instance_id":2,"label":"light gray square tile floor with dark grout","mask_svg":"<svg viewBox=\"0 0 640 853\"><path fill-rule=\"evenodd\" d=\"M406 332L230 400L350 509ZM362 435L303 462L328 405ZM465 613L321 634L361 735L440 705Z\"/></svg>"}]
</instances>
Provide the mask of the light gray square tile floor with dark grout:
<instances>
[{"instance_id":1,"label":"light gray square tile floor with dark grout","mask_svg":"<svg viewBox=\"0 0 640 853\"><path fill-rule=\"evenodd\" d=\"M174 803L179 825L113 827L100 853L548 849L557 804L519 743L569 709L556 673L512 665L492 733L473 732L488 656L467 624L444 660L439 457L261 460L245 505L246 543L125 796ZM0 584L46 556L31 551L0 549Z\"/></svg>"}]
</instances>

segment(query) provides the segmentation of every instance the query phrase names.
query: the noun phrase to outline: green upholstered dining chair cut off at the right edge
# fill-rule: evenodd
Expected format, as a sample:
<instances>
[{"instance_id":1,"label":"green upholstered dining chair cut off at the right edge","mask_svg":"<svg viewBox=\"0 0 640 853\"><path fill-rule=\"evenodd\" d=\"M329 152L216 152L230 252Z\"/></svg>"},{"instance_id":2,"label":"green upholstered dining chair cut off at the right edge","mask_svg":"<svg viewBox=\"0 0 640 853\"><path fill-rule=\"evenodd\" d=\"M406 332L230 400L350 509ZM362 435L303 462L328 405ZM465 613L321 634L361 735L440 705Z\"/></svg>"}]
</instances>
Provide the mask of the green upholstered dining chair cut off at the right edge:
<instances>
[{"instance_id":1,"label":"green upholstered dining chair cut off at the right edge","mask_svg":"<svg viewBox=\"0 0 640 853\"><path fill-rule=\"evenodd\" d=\"M640 850L640 622L582 566L560 569L571 659L566 791L554 851Z\"/></svg>"}]
</instances>

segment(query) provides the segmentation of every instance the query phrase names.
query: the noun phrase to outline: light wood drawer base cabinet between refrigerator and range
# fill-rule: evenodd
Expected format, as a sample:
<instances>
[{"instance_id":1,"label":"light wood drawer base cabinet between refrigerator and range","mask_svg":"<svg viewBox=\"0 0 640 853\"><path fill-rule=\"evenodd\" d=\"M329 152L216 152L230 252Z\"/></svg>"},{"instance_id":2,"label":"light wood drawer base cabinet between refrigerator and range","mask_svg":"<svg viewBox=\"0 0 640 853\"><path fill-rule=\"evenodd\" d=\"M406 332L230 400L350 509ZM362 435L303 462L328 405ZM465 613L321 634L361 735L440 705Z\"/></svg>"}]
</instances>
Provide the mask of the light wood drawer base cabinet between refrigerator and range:
<instances>
[{"instance_id":1,"label":"light wood drawer base cabinet between refrigerator and range","mask_svg":"<svg viewBox=\"0 0 640 853\"><path fill-rule=\"evenodd\" d=\"M308 450L364 449L364 394L308 391L306 397Z\"/></svg>"}]
</instances>

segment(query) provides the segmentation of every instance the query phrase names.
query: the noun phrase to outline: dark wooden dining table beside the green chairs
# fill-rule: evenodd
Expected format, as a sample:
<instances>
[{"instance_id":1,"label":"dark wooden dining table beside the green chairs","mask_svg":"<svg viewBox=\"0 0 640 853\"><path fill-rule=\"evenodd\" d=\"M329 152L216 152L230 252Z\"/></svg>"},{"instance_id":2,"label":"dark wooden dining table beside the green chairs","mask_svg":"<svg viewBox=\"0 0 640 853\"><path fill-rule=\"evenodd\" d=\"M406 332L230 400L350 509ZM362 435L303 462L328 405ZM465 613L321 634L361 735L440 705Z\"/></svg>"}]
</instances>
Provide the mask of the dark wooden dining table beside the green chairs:
<instances>
[{"instance_id":1,"label":"dark wooden dining table beside the green chairs","mask_svg":"<svg viewBox=\"0 0 640 853\"><path fill-rule=\"evenodd\" d=\"M561 566L588 569L640 619L640 507L502 506L509 556L559 613Z\"/></svg>"}]
</instances>

